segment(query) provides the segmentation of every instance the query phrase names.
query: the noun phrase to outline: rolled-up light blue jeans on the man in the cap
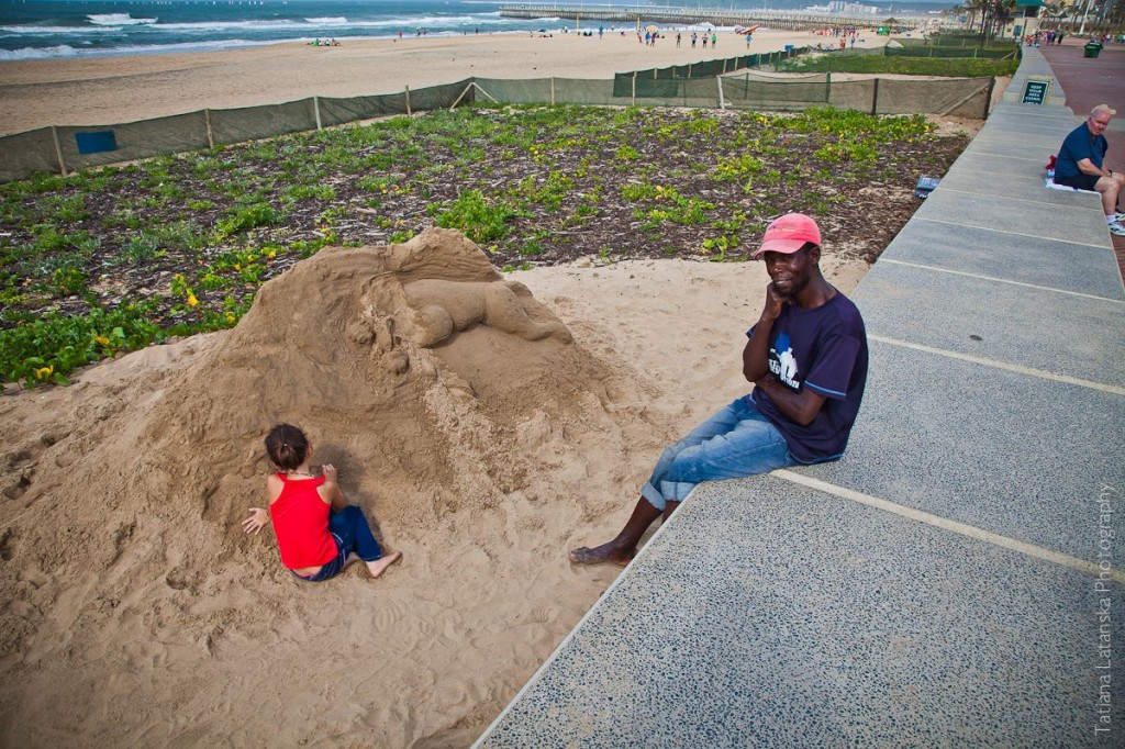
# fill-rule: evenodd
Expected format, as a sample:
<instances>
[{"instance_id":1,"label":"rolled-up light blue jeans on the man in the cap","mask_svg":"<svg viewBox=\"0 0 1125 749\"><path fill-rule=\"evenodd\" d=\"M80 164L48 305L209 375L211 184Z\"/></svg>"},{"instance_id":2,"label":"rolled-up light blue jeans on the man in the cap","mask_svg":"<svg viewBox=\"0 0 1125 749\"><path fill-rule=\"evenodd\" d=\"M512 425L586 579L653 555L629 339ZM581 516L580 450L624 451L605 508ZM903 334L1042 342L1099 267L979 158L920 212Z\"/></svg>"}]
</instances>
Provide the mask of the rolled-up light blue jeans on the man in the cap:
<instances>
[{"instance_id":1,"label":"rolled-up light blue jeans on the man in the cap","mask_svg":"<svg viewBox=\"0 0 1125 749\"><path fill-rule=\"evenodd\" d=\"M785 437L742 396L664 451L640 494L657 509L683 502L698 484L767 473L799 461Z\"/></svg>"}]
</instances>

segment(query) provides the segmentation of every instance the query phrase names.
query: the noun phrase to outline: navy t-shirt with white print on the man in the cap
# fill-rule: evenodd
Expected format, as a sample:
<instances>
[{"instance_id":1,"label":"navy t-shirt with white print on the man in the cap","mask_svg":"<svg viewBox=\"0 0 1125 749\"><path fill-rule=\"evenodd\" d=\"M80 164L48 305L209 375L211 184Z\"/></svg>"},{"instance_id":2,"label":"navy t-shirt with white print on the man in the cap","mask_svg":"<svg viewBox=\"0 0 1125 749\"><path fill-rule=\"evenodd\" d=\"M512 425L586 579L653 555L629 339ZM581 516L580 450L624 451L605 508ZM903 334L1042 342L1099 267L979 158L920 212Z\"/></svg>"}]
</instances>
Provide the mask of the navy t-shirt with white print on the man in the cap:
<instances>
[{"instance_id":1,"label":"navy t-shirt with white print on the man in the cap","mask_svg":"<svg viewBox=\"0 0 1125 749\"><path fill-rule=\"evenodd\" d=\"M754 328L747 332L752 335ZM806 463L844 454L867 383L867 332L855 304L843 294L816 309L782 307L770 340L770 373L794 392L812 388L826 397L808 426L784 416L759 388L750 394L762 415Z\"/></svg>"}]
</instances>

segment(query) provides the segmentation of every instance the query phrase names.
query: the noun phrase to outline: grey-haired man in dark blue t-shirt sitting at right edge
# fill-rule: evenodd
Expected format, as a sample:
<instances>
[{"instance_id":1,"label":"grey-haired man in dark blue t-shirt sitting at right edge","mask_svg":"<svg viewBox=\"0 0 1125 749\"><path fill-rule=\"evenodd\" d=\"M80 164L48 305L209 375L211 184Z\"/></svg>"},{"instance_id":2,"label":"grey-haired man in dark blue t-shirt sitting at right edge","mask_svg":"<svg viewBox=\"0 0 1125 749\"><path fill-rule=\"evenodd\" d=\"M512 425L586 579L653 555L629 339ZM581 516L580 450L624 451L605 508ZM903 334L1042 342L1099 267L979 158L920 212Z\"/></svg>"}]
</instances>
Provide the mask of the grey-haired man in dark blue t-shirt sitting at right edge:
<instances>
[{"instance_id":1,"label":"grey-haired man in dark blue t-shirt sitting at right edge","mask_svg":"<svg viewBox=\"0 0 1125 749\"><path fill-rule=\"evenodd\" d=\"M1055 184L1094 190L1101 195L1101 210L1106 215L1109 231L1125 236L1125 214L1117 209L1117 198L1125 192L1125 174L1106 168L1106 151L1109 142L1104 133L1117 111L1108 105L1098 105L1090 110L1084 123L1076 127L1062 142L1055 162Z\"/></svg>"}]
</instances>

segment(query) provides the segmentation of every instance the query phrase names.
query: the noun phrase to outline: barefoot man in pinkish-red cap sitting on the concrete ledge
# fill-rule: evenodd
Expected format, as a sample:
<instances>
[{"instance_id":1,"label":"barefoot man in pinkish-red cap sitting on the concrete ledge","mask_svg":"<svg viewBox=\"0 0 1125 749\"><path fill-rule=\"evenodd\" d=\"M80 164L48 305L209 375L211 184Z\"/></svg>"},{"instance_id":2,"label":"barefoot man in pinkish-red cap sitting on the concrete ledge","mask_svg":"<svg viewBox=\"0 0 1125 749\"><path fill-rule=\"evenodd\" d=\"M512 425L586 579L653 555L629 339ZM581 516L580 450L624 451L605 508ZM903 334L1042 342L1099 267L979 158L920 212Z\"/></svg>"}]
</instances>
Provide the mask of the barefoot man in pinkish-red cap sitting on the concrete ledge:
<instances>
[{"instance_id":1,"label":"barefoot man in pinkish-red cap sitting on the concrete ledge","mask_svg":"<svg viewBox=\"0 0 1125 749\"><path fill-rule=\"evenodd\" d=\"M754 259L771 283L747 332L742 374L754 390L664 451L612 541L570 551L576 565L628 565L649 525L696 485L819 463L844 454L867 381L860 310L820 273L820 229L804 214L773 222Z\"/></svg>"}]
</instances>

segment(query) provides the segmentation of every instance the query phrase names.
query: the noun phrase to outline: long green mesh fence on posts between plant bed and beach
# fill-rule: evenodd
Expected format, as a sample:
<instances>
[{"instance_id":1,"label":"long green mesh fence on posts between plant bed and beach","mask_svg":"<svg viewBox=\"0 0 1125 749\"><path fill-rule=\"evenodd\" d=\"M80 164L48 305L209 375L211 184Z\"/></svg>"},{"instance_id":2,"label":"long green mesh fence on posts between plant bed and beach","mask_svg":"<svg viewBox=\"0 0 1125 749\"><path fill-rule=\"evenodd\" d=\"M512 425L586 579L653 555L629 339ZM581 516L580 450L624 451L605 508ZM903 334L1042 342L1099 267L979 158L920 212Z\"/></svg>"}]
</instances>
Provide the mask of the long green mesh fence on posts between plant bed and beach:
<instances>
[{"instance_id":1,"label":"long green mesh fence on posts between plant bed and beach","mask_svg":"<svg viewBox=\"0 0 1125 749\"><path fill-rule=\"evenodd\" d=\"M0 181L474 101L781 110L828 103L876 114L937 112L980 118L988 114L992 79L831 81L826 74L814 73L781 80L776 74L747 70L803 52L802 48L649 69L620 73L612 81L467 79L400 93L313 97L98 127L45 127L0 137Z\"/></svg>"}]
</instances>

